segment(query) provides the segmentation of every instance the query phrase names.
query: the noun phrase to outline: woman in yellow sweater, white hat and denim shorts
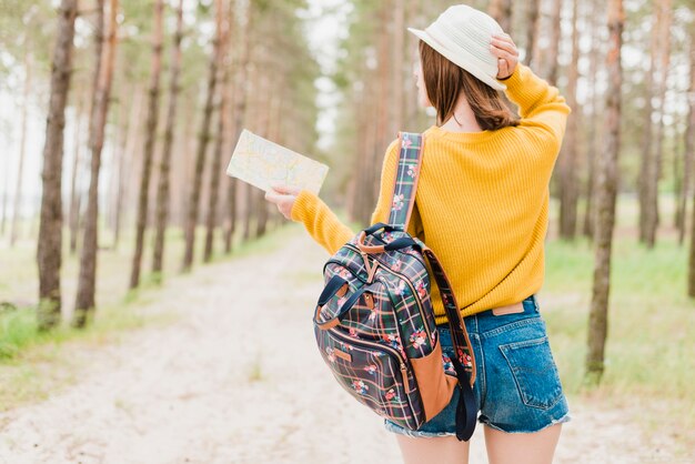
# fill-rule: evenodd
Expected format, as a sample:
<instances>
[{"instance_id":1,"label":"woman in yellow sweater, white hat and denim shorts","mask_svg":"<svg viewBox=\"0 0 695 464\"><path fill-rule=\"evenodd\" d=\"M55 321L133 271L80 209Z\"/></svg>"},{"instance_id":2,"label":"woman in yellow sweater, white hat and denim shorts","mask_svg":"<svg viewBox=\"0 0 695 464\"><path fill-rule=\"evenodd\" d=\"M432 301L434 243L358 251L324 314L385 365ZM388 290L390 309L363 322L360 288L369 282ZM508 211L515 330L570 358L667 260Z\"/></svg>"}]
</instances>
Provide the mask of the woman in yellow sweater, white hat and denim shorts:
<instances>
[{"instance_id":1,"label":"woman in yellow sweater, white hat and denim shorts","mask_svg":"<svg viewBox=\"0 0 695 464\"><path fill-rule=\"evenodd\" d=\"M555 87L518 63L510 36L481 11L454 6L424 31L409 30L421 39L419 104L434 107L437 121L423 133L407 232L434 251L462 304L490 462L550 463L570 416L535 293L543 283L548 182L571 109ZM521 119L497 90L518 105ZM386 150L371 223L387 222L397 158L396 139ZM312 192L275 191L265 198L329 253L355 235ZM442 349L452 356L434 280L431 296ZM405 463L467 462L469 443L455 437L457 396L456 389L417 431L385 420Z\"/></svg>"}]
</instances>

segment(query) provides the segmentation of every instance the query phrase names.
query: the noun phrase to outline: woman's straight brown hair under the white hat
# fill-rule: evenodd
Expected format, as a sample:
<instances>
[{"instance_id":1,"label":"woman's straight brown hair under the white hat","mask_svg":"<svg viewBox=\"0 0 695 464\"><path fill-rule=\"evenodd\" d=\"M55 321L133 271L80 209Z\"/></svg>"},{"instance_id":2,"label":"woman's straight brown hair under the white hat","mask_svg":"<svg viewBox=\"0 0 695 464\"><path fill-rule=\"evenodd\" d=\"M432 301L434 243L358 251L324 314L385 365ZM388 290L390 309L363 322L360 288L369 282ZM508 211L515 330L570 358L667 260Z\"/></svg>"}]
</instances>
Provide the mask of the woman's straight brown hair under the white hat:
<instances>
[{"instance_id":1,"label":"woman's straight brown hair under the white hat","mask_svg":"<svg viewBox=\"0 0 695 464\"><path fill-rule=\"evenodd\" d=\"M422 40L420 59L427 98L436 110L436 125L442 125L454 115L461 92L464 92L481 129L494 131L518 124L518 119L504 104L500 92L449 61Z\"/></svg>"}]
</instances>

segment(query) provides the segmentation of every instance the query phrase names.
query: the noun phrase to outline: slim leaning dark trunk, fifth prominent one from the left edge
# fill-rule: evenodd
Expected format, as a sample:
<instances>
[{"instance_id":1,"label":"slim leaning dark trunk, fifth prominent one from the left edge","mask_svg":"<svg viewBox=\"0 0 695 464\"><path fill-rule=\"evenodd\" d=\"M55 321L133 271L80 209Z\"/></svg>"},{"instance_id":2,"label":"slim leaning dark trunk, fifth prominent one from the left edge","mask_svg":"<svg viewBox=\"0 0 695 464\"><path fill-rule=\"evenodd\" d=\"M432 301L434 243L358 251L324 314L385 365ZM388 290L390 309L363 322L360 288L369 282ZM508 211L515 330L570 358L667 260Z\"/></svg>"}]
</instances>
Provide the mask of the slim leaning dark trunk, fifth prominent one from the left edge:
<instances>
[{"instance_id":1,"label":"slim leaning dark trunk, fifth prominent one from the left edge","mask_svg":"<svg viewBox=\"0 0 695 464\"><path fill-rule=\"evenodd\" d=\"M215 0L215 11L222 9L222 0ZM193 176L193 185L191 190L189 211L185 224L185 253L183 256L183 271L188 272L193 265L193 251L195 248L195 226L198 225L199 208L200 208L200 190L203 180L203 169L205 167L205 154L208 143L210 142L210 121L212 120L212 109L214 103L214 94L218 84L218 63L220 61L220 19L221 14L215 16L215 37L213 39L213 50L210 57L208 69L208 94L205 98L205 108L203 109L203 120L201 123L200 135L198 139L198 153L195 155L195 171Z\"/></svg>"}]
</instances>

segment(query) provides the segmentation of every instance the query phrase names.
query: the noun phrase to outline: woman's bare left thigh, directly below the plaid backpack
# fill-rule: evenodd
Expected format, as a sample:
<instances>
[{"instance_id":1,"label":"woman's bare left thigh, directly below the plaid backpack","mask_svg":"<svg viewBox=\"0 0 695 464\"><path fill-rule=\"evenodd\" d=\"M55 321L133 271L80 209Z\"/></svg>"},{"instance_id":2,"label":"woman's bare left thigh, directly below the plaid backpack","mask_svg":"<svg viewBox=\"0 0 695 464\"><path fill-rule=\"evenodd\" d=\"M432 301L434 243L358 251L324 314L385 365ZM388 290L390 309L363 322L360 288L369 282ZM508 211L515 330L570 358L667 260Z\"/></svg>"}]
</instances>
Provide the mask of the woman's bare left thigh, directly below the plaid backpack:
<instances>
[{"instance_id":1,"label":"woman's bare left thigh, directly below the plaid backpack","mask_svg":"<svg viewBox=\"0 0 695 464\"><path fill-rule=\"evenodd\" d=\"M455 436L415 437L396 435L405 464L469 464L469 442Z\"/></svg>"}]
</instances>

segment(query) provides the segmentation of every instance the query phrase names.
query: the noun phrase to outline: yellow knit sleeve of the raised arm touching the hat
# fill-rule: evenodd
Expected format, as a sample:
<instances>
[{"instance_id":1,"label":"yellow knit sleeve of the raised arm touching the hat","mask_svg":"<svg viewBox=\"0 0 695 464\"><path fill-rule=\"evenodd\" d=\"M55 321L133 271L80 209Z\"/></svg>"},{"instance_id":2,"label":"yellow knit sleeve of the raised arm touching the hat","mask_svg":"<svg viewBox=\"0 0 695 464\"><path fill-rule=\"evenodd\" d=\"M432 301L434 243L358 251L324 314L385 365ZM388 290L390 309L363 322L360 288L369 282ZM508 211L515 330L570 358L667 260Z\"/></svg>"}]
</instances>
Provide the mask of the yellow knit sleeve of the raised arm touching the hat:
<instances>
[{"instance_id":1,"label":"yellow knit sleeve of the raised arm touching the hat","mask_svg":"<svg viewBox=\"0 0 695 464\"><path fill-rule=\"evenodd\" d=\"M522 119L517 133L538 147L540 152L557 155L572 112L560 90L523 63L517 63L508 78L498 81L506 84L506 95L518 105Z\"/></svg>"}]
</instances>

